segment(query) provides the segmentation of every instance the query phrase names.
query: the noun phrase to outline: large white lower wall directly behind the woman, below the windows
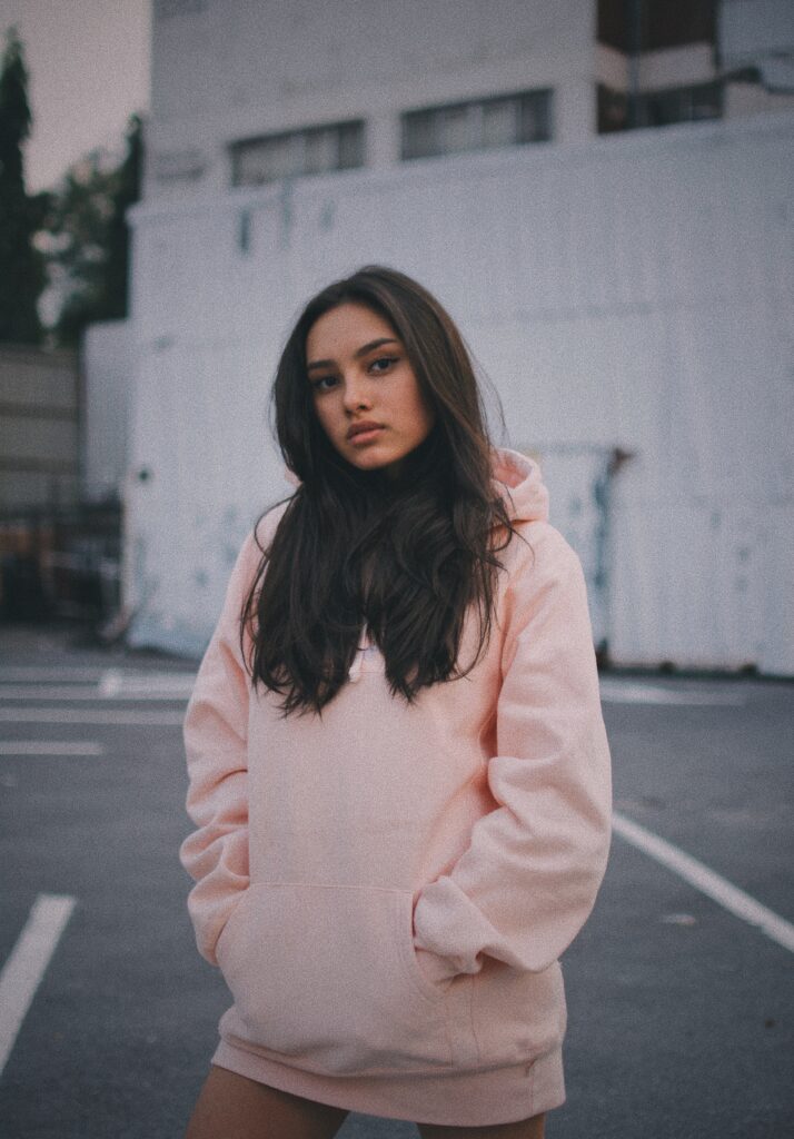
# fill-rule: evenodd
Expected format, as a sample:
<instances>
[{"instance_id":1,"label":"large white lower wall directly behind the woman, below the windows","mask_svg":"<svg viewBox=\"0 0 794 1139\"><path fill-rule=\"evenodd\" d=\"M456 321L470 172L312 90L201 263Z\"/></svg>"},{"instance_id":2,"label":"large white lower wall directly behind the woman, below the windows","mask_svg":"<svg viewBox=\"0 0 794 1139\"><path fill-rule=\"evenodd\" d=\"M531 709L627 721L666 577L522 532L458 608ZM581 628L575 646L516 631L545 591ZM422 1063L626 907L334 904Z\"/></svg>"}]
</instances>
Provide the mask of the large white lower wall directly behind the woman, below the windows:
<instances>
[{"instance_id":1,"label":"large white lower wall directly behind the woman, below the windows","mask_svg":"<svg viewBox=\"0 0 794 1139\"><path fill-rule=\"evenodd\" d=\"M603 606L617 662L793 672L793 134L775 115L137 207L133 639L204 644L289 490L264 425L284 337L376 260L458 320L572 540L592 476L559 456L633 453Z\"/></svg>"}]
</instances>

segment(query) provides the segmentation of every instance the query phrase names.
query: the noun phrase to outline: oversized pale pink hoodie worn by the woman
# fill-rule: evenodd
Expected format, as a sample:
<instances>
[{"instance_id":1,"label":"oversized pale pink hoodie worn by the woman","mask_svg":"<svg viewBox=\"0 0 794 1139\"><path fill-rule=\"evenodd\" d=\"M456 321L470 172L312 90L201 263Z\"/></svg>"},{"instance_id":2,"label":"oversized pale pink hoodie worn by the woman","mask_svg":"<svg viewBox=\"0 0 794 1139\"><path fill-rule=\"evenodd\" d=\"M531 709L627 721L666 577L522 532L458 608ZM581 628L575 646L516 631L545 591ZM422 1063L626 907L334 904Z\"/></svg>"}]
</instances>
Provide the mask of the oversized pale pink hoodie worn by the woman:
<instances>
[{"instance_id":1,"label":"oversized pale pink hoodie worn by the woman","mask_svg":"<svg viewBox=\"0 0 794 1139\"><path fill-rule=\"evenodd\" d=\"M362 629L322 716L251 685L238 556L185 719L181 849L199 951L234 997L214 1063L352 1111L448 1125L564 1099L558 958L609 844L587 591L538 466L494 451L521 538L467 675L392 697ZM281 517L263 519L267 547ZM477 617L464 629L470 663Z\"/></svg>"}]
</instances>

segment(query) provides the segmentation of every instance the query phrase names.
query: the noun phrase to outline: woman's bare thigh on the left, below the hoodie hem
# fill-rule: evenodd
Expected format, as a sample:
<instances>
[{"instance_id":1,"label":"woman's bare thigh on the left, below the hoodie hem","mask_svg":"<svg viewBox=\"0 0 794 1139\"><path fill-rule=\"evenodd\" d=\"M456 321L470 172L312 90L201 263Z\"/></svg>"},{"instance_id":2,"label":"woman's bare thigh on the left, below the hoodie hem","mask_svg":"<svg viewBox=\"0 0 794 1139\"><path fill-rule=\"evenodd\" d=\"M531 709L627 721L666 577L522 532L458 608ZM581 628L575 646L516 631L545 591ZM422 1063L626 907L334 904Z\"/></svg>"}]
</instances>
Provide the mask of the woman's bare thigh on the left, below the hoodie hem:
<instances>
[{"instance_id":1,"label":"woman's bare thigh on the left, below the hoodie hem","mask_svg":"<svg viewBox=\"0 0 794 1139\"><path fill-rule=\"evenodd\" d=\"M331 1139L346 1115L213 1065L185 1139Z\"/></svg>"}]
</instances>

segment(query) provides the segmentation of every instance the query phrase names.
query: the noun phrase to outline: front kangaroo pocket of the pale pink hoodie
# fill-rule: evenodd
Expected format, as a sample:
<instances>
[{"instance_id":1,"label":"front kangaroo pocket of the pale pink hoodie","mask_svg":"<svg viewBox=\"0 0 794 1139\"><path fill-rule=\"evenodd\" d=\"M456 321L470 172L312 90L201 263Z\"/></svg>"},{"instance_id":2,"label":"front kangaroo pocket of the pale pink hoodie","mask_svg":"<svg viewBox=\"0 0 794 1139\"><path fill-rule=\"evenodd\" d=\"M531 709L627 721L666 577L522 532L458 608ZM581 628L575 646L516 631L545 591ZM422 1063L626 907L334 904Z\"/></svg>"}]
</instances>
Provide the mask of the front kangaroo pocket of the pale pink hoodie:
<instances>
[{"instance_id":1,"label":"front kangaroo pocket of the pale pink hoodie","mask_svg":"<svg viewBox=\"0 0 794 1139\"><path fill-rule=\"evenodd\" d=\"M248 886L218 943L259 1048L336 1074L451 1066L444 992L419 969L410 893Z\"/></svg>"}]
</instances>

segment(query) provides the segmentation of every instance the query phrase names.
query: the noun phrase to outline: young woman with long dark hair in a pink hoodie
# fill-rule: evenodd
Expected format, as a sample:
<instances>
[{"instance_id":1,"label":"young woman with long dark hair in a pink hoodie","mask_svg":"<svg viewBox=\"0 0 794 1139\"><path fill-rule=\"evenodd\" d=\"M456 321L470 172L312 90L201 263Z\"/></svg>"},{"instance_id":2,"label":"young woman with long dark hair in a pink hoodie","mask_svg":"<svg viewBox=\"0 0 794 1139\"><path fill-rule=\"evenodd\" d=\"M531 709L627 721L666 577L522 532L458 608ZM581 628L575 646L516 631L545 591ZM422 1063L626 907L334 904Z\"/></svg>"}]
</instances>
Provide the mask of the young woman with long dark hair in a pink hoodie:
<instances>
[{"instance_id":1,"label":"young woman with long dark hair in a pink hoodie","mask_svg":"<svg viewBox=\"0 0 794 1139\"><path fill-rule=\"evenodd\" d=\"M189 1139L538 1139L609 754L580 563L494 448L437 301L368 267L273 387L297 480L243 544L185 721L198 948L234 997Z\"/></svg>"}]
</instances>

